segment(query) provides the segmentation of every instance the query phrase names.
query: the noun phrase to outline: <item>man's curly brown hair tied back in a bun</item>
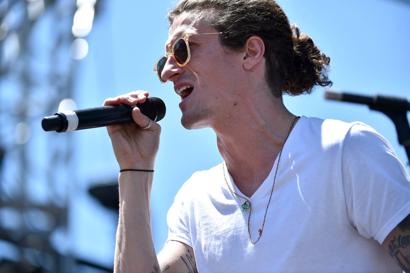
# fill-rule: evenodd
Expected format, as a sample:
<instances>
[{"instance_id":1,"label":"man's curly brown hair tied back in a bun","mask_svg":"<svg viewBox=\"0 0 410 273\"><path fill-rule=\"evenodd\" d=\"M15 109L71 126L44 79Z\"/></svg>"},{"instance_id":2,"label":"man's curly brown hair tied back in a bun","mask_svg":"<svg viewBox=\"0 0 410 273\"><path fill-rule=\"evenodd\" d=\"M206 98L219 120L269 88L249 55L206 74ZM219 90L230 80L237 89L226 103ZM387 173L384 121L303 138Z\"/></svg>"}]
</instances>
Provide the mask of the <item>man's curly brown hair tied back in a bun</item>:
<instances>
[{"instance_id":1,"label":"man's curly brown hair tied back in a bun","mask_svg":"<svg viewBox=\"0 0 410 273\"><path fill-rule=\"evenodd\" d=\"M253 35L265 43L265 78L273 96L309 94L315 86L331 86L330 58L320 52L312 39L290 25L274 0L181 0L169 12L173 20L184 12L212 9L202 17L218 32L221 44L239 50ZM282 90L278 90L282 86Z\"/></svg>"}]
</instances>

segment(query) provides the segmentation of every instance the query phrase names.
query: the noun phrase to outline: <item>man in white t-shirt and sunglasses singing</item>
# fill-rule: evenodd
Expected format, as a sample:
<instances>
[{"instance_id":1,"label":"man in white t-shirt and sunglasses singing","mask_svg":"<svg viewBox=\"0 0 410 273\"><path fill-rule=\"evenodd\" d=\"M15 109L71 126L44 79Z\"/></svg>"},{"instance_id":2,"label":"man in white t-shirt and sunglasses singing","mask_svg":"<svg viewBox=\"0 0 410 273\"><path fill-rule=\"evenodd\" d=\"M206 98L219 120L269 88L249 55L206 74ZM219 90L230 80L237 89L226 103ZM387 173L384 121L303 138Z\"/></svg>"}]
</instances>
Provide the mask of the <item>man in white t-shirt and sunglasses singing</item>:
<instances>
[{"instance_id":1,"label":"man in white t-shirt and sunglasses singing","mask_svg":"<svg viewBox=\"0 0 410 273\"><path fill-rule=\"evenodd\" d=\"M410 183L392 146L363 123L298 117L282 102L332 84L312 39L273 0L182 0L168 18L154 70L181 96L182 125L215 131L223 162L182 186L157 256L161 128L137 107L136 124L107 128L121 170L115 271L410 272Z\"/></svg>"}]
</instances>

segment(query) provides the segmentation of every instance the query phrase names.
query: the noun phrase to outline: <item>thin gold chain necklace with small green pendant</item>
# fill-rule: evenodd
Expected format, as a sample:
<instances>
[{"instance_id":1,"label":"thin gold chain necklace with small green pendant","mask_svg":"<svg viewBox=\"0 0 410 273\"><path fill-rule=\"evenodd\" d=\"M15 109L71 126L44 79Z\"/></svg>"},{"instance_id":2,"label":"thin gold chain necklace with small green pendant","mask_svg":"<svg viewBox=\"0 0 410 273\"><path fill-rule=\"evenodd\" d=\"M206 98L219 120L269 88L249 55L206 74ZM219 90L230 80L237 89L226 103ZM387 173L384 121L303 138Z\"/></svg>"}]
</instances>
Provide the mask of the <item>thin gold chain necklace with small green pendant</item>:
<instances>
[{"instance_id":1,"label":"thin gold chain necklace with small green pendant","mask_svg":"<svg viewBox=\"0 0 410 273\"><path fill-rule=\"evenodd\" d=\"M246 198L246 197L244 197L244 196L240 196L240 195L237 194L235 191L232 191L232 189L229 187L228 180L226 180L226 174L225 174L225 165L226 165L226 162L225 162L225 160L223 160L223 162L222 162L223 178L225 178L226 185L228 186L229 190L232 191L232 193L235 194L235 195L238 197L238 200L239 200L239 197L245 199L245 202L241 205L242 211L248 211L248 209L249 209L249 216L248 216L248 234L249 234L249 239L251 240L251 243L253 243L253 244L257 243L257 241L259 241L260 237L262 236L263 227L264 227L264 225L265 225L266 213L268 212L269 203L271 202L271 198L272 198L273 187L275 186L276 174L278 173L280 155L282 155L283 146L285 146L285 143L286 143L287 138L288 138L288 136L289 136L289 132L290 132L290 130L292 129L292 127L293 127L293 125L294 125L294 121L296 121L295 118L298 118L298 117L296 117L296 115L295 115L295 116L293 116L292 120L290 121L289 128L287 129L285 141L283 141L282 148L280 148L279 157L278 157L278 164L276 165L276 172L275 172L275 176L273 177L273 184L272 184L271 196L269 197L268 205L266 205L266 211L265 211L265 216L263 217L262 228L260 228L260 229L258 230L258 232L259 232L259 237L257 238L257 240L256 240L255 242L252 241L251 229L250 229L250 227L249 227L249 225L250 225L250 220L251 220L251 213L252 213L252 204L251 204L251 201L249 201L248 198ZM226 166L226 168L228 168L228 166ZM235 182L232 181L232 183L233 183L233 186L235 187ZM240 202L240 200L239 200L239 202Z\"/></svg>"}]
</instances>

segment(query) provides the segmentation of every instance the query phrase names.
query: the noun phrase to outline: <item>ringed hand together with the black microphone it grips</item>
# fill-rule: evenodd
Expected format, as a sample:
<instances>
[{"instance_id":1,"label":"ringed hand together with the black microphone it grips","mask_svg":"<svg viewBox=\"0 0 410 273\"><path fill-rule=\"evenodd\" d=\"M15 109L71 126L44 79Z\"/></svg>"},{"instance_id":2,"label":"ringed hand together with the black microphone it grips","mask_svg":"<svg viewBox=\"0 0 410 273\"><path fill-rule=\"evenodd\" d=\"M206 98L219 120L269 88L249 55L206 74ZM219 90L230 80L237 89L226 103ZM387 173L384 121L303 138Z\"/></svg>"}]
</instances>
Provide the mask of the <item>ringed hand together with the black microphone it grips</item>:
<instances>
[{"instance_id":1,"label":"ringed hand together with the black microphone it grips","mask_svg":"<svg viewBox=\"0 0 410 273\"><path fill-rule=\"evenodd\" d=\"M102 107L45 117L41 125L45 131L57 132L107 126L120 169L151 170L161 133L155 121L164 118L165 110L161 99L148 97L146 91L134 91L107 98Z\"/></svg>"}]
</instances>

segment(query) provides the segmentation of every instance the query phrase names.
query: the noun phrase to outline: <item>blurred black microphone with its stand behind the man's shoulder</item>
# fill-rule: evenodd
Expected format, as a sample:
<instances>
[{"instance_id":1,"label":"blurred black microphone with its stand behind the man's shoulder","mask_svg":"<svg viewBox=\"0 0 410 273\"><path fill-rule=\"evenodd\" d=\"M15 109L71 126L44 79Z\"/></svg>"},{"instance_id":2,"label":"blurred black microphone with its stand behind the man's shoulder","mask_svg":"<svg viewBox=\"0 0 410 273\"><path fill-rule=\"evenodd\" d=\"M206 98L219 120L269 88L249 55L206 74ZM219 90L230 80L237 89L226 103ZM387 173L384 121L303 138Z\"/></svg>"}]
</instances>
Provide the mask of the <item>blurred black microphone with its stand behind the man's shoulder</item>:
<instances>
[{"instance_id":1,"label":"blurred black microphone with its stand behind the man's shoulder","mask_svg":"<svg viewBox=\"0 0 410 273\"><path fill-rule=\"evenodd\" d=\"M370 109L380 111L388 116L396 126L399 143L404 146L410 161L410 126L407 120L407 111L410 111L410 102L406 98L374 95L362 96L352 93L327 90L325 98L368 105Z\"/></svg>"}]
</instances>

